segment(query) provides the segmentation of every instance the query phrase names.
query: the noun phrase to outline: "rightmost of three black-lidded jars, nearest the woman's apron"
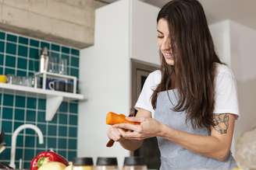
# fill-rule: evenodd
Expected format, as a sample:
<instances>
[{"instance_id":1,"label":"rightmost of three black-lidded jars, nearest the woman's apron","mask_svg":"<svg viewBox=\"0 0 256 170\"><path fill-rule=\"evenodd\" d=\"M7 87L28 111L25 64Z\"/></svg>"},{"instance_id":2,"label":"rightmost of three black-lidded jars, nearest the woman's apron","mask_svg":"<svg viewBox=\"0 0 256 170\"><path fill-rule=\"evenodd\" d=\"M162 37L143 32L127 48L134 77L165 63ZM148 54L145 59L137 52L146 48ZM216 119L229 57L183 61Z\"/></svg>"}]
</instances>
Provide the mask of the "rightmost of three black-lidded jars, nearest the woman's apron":
<instances>
[{"instance_id":1,"label":"rightmost of three black-lidded jars, nearest the woman's apron","mask_svg":"<svg viewBox=\"0 0 256 170\"><path fill-rule=\"evenodd\" d=\"M123 170L147 170L143 157L126 157L123 162Z\"/></svg>"}]
</instances>

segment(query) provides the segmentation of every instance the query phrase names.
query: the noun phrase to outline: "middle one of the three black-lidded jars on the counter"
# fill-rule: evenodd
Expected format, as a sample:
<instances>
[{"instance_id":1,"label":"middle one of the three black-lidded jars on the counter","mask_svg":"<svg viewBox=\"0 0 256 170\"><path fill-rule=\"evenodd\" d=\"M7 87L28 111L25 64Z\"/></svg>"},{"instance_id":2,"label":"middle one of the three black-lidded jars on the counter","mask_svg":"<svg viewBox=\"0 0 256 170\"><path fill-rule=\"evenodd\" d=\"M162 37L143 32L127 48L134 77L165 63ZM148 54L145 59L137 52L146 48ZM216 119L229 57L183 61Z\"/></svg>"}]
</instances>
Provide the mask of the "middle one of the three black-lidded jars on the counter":
<instances>
[{"instance_id":1,"label":"middle one of the three black-lidded jars on the counter","mask_svg":"<svg viewBox=\"0 0 256 170\"><path fill-rule=\"evenodd\" d=\"M97 158L96 170L118 170L116 158Z\"/></svg>"}]
</instances>

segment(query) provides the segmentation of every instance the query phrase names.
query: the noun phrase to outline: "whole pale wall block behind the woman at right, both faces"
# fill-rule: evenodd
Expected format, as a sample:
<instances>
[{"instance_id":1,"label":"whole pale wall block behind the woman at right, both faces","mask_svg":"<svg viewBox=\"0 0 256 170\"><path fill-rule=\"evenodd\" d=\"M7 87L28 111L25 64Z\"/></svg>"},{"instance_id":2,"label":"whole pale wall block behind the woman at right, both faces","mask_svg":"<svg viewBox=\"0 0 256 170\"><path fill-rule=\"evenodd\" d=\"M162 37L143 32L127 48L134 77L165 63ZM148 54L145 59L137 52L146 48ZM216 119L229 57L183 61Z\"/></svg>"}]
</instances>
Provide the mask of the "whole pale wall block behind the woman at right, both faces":
<instances>
[{"instance_id":1,"label":"whole pale wall block behind the woman at right, both faces","mask_svg":"<svg viewBox=\"0 0 256 170\"><path fill-rule=\"evenodd\" d=\"M219 57L236 76L240 118L236 121L235 142L245 130L256 126L256 30L229 20L215 23L210 29Z\"/></svg>"}]
</instances>

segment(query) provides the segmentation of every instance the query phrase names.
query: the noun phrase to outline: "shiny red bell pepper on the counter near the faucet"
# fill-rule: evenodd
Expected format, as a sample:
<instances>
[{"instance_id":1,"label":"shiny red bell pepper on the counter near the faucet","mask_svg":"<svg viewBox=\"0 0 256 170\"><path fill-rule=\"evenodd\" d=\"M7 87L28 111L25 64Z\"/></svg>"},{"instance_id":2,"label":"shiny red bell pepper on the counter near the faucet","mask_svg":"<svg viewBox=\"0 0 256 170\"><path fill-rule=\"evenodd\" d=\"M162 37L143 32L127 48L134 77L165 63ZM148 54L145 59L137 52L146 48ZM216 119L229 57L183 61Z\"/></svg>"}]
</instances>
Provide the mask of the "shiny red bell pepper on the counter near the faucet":
<instances>
[{"instance_id":1,"label":"shiny red bell pepper on the counter near the faucet","mask_svg":"<svg viewBox=\"0 0 256 170\"><path fill-rule=\"evenodd\" d=\"M48 164L50 162L62 163L62 165L65 165L65 168L67 165L69 165L69 162L66 160L66 158L63 158L61 155L55 153L54 151L43 151L37 154L37 156L33 158L33 160L30 163L30 170L37 170L41 168L42 165ZM56 164L54 163L53 165L56 165ZM55 169L55 168L52 168L52 169Z\"/></svg>"}]
</instances>

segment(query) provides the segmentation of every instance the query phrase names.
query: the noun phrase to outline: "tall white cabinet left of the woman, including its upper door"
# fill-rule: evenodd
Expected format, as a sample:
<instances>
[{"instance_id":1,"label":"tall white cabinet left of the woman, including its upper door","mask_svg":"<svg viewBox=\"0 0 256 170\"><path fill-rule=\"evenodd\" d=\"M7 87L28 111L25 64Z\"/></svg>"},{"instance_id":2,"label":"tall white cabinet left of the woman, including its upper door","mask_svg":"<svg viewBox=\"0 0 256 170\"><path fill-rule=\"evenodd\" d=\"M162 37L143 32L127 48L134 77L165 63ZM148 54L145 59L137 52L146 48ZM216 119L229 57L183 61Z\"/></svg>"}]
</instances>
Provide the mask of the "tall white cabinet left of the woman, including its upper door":
<instances>
[{"instance_id":1,"label":"tall white cabinet left of the woman, including its upper door","mask_svg":"<svg viewBox=\"0 0 256 170\"><path fill-rule=\"evenodd\" d=\"M105 116L109 111L130 112L130 58L158 64L157 13L158 8L137 0L96 10L94 47L80 53L80 88L87 101L79 105L78 156L94 157L94 161L98 156L117 157L123 165L129 155L119 144L105 147Z\"/></svg>"}]
</instances>

